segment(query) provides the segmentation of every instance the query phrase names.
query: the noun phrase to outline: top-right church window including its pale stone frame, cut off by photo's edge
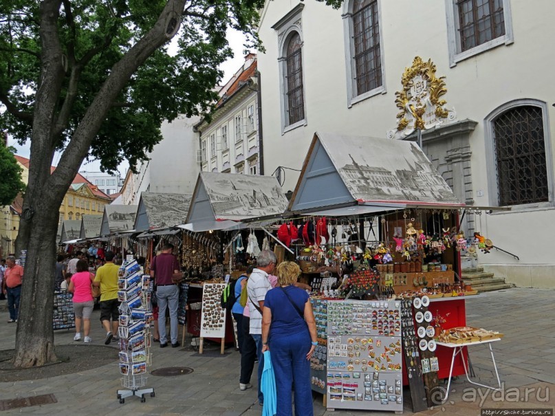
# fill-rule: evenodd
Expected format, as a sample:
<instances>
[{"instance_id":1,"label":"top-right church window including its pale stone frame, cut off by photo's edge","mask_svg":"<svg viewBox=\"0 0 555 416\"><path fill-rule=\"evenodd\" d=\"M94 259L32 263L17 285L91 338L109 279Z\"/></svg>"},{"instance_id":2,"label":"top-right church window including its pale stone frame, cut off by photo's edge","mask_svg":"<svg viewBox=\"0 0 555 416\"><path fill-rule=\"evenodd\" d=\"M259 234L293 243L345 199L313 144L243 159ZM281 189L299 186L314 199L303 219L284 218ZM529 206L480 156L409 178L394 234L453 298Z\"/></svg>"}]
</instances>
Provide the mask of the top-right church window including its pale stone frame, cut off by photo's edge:
<instances>
[{"instance_id":1,"label":"top-right church window including its pale stone frame, cut off by photo's edge","mask_svg":"<svg viewBox=\"0 0 555 416\"><path fill-rule=\"evenodd\" d=\"M445 0L450 65L513 42L510 0Z\"/></svg>"}]
</instances>

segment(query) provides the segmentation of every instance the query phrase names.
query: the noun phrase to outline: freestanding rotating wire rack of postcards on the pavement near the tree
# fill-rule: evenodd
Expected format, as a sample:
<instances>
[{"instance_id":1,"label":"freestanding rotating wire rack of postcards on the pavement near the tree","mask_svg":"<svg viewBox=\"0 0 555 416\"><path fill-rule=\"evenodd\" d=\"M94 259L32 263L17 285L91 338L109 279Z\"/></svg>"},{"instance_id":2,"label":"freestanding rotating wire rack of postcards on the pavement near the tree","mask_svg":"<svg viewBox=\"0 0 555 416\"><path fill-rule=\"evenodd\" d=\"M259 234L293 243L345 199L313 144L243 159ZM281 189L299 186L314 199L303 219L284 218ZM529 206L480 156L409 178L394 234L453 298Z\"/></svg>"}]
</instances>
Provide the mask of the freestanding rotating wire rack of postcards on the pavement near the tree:
<instances>
[{"instance_id":1,"label":"freestanding rotating wire rack of postcards on the pavement near the tree","mask_svg":"<svg viewBox=\"0 0 555 416\"><path fill-rule=\"evenodd\" d=\"M151 364L151 278L142 274L136 261L131 261L120 267L118 287L120 373L122 386L128 388L118 390L118 399L124 403L126 397L135 395L145 402L147 393L155 395L153 388L142 388L146 385L146 366Z\"/></svg>"}]
</instances>

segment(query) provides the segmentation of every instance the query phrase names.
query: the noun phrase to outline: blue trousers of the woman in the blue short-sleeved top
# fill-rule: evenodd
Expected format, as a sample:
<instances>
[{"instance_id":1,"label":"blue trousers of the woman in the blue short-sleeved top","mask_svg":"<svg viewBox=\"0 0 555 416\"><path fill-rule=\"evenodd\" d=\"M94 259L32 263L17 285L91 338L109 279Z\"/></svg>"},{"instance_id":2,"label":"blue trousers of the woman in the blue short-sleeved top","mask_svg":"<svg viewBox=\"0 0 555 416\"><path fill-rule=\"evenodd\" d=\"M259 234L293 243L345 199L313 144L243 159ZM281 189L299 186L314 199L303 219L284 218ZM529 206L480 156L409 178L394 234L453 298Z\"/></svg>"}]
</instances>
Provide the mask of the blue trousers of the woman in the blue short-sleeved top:
<instances>
[{"instance_id":1,"label":"blue trousers of the woman in the blue short-sleeved top","mask_svg":"<svg viewBox=\"0 0 555 416\"><path fill-rule=\"evenodd\" d=\"M291 388L294 388L295 415L312 416L312 388L310 387L310 350L308 331L270 338L272 367L276 377L276 416L291 416Z\"/></svg>"}]
</instances>

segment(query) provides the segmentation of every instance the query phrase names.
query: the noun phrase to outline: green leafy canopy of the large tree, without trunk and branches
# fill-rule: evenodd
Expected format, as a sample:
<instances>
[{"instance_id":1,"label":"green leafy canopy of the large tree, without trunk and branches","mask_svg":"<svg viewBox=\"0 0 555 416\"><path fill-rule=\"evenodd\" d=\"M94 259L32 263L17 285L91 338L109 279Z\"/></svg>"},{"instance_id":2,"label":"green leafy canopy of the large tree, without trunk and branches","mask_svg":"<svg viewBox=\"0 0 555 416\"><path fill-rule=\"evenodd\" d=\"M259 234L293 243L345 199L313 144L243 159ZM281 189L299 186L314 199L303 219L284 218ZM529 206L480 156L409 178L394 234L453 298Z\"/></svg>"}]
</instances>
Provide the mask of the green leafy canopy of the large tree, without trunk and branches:
<instances>
[{"instance_id":1,"label":"green leafy canopy of the large tree, without trunk and branches","mask_svg":"<svg viewBox=\"0 0 555 416\"><path fill-rule=\"evenodd\" d=\"M155 25L166 0L59 0L58 39L64 53L63 88L58 97L61 128L52 146L61 151L116 64ZM32 135L35 92L41 79L39 1L0 0L0 130L20 143ZM210 111L223 75L217 67L232 55L226 30L248 34L246 48L258 47L255 32L262 0L187 2L175 55L168 43L133 74L111 104L96 133L89 158L115 169L144 160L162 139L163 120ZM69 107L67 117L60 116Z\"/></svg>"}]
</instances>

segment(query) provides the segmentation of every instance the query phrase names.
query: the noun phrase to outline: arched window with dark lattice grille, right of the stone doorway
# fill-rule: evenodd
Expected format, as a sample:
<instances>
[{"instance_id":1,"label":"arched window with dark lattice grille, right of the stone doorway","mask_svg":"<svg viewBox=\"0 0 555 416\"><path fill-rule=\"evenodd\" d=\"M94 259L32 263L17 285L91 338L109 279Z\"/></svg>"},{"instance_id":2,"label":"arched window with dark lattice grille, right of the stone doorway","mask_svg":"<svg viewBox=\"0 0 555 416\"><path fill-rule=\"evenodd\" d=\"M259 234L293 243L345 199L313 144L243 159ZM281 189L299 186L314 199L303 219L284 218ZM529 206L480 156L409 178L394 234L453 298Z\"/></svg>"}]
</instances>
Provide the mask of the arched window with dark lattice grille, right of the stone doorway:
<instances>
[{"instance_id":1,"label":"arched window with dark lattice grille, right of the stone doorway","mask_svg":"<svg viewBox=\"0 0 555 416\"><path fill-rule=\"evenodd\" d=\"M493 127L499 204L548 201L541 109L510 109L494 120Z\"/></svg>"}]
</instances>

